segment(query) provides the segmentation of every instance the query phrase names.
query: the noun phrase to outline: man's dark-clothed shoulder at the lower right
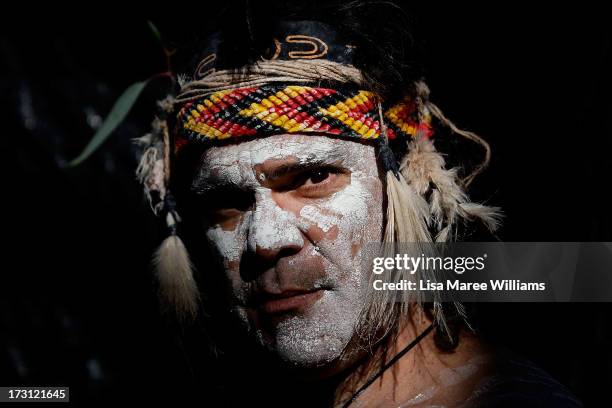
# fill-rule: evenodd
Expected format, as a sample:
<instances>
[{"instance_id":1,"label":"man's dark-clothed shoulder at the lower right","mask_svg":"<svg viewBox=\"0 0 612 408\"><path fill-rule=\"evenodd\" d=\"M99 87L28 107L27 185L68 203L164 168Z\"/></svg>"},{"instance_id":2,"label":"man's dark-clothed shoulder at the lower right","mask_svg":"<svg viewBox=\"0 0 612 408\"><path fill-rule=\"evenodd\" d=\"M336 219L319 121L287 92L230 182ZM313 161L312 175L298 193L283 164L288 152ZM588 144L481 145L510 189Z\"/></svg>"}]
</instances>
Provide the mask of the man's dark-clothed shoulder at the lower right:
<instances>
[{"instance_id":1,"label":"man's dark-clothed shoulder at the lower right","mask_svg":"<svg viewBox=\"0 0 612 408\"><path fill-rule=\"evenodd\" d=\"M478 387L476 407L582 407L565 386L533 362L509 351L496 356L495 372Z\"/></svg>"}]
</instances>

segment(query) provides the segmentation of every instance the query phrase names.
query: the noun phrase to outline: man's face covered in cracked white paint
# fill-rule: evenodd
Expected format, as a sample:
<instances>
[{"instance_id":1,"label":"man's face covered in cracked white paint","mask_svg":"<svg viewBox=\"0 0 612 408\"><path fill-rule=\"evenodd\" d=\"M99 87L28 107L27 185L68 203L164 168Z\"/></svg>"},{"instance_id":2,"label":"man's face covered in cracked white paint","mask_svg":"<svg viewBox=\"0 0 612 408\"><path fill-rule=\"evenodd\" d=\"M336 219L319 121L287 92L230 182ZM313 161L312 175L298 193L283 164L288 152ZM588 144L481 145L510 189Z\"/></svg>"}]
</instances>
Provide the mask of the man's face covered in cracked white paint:
<instances>
[{"instance_id":1,"label":"man's face covered in cracked white paint","mask_svg":"<svg viewBox=\"0 0 612 408\"><path fill-rule=\"evenodd\" d=\"M304 135L211 147L192 189L246 327L285 361L334 361L367 303L361 249L382 238L374 147Z\"/></svg>"}]
</instances>

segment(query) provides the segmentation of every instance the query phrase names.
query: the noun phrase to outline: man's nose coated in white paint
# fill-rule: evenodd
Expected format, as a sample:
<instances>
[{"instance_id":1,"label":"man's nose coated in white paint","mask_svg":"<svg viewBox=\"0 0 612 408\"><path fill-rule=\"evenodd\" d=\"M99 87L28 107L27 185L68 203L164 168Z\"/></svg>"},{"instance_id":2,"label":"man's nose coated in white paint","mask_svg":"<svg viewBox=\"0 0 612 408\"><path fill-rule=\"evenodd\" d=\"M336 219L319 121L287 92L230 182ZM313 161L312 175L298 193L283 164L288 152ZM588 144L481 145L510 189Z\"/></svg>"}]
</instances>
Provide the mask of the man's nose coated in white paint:
<instances>
[{"instance_id":1,"label":"man's nose coated in white paint","mask_svg":"<svg viewBox=\"0 0 612 408\"><path fill-rule=\"evenodd\" d=\"M248 250L262 261L275 263L304 246L296 216L282 208L268 189L255 194L249 226Z\"/></svg>"}]
</instances>

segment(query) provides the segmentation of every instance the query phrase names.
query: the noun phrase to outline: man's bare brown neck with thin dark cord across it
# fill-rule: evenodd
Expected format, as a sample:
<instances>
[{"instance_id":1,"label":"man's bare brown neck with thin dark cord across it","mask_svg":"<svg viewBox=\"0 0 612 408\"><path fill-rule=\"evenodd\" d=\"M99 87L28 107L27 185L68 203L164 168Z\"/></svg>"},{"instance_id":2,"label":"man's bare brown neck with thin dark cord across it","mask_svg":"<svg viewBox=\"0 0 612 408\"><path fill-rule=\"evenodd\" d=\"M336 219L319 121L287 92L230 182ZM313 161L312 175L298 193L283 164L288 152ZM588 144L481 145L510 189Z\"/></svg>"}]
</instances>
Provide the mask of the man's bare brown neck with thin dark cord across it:
<instances>
[{"instance_id":1,"label":"man's bare brown neck with thin dark cord across it","mask_svg":"<svg viewBox=\"0 0 612 408\"><path fill-rule=\"evenodd\" d=\"M372 376L376 375L397 353L401 352L431 321L411 319L397 336L364 358L336 389L334 405L342 407L355 396ZM387 407L454 405L469 397L486 374L489 355L472 334L463 333L459 345L451 352L438 348L434 333L425 336L408 353L364 389L352 407Z\"/></svg>"}]
</instances>

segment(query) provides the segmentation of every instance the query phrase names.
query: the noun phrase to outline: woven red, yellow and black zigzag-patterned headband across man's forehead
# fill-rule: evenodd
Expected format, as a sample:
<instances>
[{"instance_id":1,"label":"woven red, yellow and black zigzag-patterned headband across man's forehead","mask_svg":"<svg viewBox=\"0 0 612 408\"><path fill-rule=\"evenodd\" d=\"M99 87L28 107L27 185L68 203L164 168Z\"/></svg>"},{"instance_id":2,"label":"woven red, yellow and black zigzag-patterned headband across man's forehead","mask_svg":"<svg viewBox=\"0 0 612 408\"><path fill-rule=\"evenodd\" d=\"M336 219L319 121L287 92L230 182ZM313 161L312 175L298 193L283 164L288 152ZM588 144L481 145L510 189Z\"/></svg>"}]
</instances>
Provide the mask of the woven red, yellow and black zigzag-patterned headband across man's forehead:
<instances>
[{"instance_id":1,"label":"woven red, yellow and black zigzag-patterned headband across man's forehead","mask_svg":"<svg viewBox=\"0 0 612 408\"><path fill-rule=\"evenodd\" d=\"M431 135L428 117L419 121L406 99L383 113L387 137ZM381 136L378 105L371 92L302 85L263 85L230 89L186 102L177 115L175 150L191 142L284 133L337 135L359 139Z\"/></svg>"}]
</instances>

